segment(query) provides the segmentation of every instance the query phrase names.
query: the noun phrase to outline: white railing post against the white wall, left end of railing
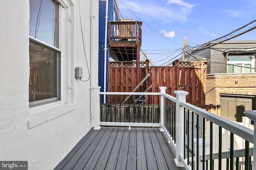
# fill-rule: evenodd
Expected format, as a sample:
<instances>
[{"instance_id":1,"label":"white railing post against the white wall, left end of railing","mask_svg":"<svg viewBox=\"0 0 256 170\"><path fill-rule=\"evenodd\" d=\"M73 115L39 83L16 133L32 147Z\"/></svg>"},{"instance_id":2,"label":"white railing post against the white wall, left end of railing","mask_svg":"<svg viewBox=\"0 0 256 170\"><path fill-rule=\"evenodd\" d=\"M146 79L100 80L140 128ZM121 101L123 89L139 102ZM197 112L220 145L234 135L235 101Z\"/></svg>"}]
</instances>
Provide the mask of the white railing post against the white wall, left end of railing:
<instances>
[{"instance_id":1,"label":"white railing post against the white wall, left end of railing","mask_svg":"<svg viewBox=\"0 0 256 170\"><path fill-rule=\"evenodd\" d=\"M100 86L93 87L94 130L100 129Z\"/></svg>"}]
</instances>

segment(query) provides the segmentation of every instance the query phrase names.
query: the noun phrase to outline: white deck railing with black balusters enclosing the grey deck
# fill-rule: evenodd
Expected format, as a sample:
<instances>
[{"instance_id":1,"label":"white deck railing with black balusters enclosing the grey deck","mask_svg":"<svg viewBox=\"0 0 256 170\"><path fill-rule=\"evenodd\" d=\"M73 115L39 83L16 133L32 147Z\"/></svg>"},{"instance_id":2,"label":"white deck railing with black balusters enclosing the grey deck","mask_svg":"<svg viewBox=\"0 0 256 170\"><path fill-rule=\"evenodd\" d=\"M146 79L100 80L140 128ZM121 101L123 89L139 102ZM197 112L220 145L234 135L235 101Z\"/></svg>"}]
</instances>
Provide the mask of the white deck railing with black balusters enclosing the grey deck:
<instances>
[{"instance_id":1,"label":"white deck railing with black balusters enclosing the grey deck","mask_svg":"<svg viewBox=\"0 0 256 170\"><path fill-rule=\"evenodd\" d=\"M176 150L176 166L188 170L256 169L256 134L238 123L186 102L188 92L100 92L94 88L95 129L102 126L159 127ZM128 98L122 104L122 98ZM106 98L106 102L101 98ZM114 99L114 100L113 100ZM153 104L152 101L153 100ZM249 114L250 115L250 114ZM252 113L252 117L255 113ZM256 118L253 118L255 121Z\"/></svg>"}]
</instances>

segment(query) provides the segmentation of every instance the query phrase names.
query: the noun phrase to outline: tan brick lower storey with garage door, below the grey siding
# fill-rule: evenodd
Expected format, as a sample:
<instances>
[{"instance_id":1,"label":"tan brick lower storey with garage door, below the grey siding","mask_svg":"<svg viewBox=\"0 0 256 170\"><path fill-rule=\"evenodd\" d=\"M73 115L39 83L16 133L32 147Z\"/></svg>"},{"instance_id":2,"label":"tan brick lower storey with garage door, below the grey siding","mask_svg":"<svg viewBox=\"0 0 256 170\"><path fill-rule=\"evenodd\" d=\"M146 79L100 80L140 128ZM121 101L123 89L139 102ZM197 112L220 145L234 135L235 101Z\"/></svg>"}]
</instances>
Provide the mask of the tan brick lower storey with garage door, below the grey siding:
<instances>
[{"instance_id":1,"label":"tan brick lower storey with garage door, below the grey siding","mask_svg":"<svg viewBox=\"0 0 256 170\"><path fill-rule=\"evenodd\" d=\"M206 104L220 105L221 116L242 121L243 111L256 109L256 73L208 74Z\"/></svg>"}]
</instances>

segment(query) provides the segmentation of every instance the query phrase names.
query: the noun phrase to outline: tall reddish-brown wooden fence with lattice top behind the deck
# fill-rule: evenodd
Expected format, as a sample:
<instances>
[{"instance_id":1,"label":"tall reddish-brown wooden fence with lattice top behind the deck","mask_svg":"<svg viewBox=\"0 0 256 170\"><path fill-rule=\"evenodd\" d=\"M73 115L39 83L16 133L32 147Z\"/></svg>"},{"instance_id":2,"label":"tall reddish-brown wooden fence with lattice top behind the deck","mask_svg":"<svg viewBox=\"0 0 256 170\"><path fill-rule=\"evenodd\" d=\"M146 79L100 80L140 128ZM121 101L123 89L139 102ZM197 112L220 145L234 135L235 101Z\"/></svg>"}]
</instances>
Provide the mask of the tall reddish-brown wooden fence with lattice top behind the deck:
<instances>
[{"instance_id":1,"label":"tall reddish-brown wooden fence with lattice top behind the deck","mask_svg":"<svg viewBox=\"0 0 256 170\"><path fill-rule=\"evenodd\" d=\"M189 92L186 97L188 103L204 105L206 66L205 62L174 61L172 66L150 66L148 61L110 62L108 92L132 92L149 73L150 76L135 92L145 92L150 86L152 88L148 92L160 92L159 87L165 86L167 94L176 97L175 90L185 90Z\"/></svg>"}]
</instances>

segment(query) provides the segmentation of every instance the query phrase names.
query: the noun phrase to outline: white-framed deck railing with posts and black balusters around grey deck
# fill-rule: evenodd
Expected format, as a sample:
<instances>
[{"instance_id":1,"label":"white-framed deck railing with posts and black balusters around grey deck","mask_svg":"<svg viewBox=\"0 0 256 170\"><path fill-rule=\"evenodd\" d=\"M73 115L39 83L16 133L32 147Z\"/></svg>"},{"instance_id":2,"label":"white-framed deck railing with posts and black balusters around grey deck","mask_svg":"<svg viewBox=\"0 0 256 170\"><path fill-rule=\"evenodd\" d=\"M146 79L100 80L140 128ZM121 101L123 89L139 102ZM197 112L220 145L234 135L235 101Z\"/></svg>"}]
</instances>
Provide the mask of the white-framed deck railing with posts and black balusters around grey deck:
<instances>
[{"instance_id":1,"label":"white-framed deck railing with posts and black balusters around grey deck","mask_svg":"<svg viewBox=\"0 0 256 170\"><path fill-rule=\"evenodd\" d=\"M94 99L94 111L97 113L94 115L95 129L100 129L100 125L160 127L160 130L165 131L166 136L169 138L169 142L176 149L176 158L174 161L178 167L185 167L188 170L211 170L213 167L218 167L218 169L223 169L223 167L235 169L237 166L240 166L240 164L244 164L242 169L250 170L253 167L253 169L256 170L256 161L252 161L253 156L256 155L255 145L254 148L252 147L253 143L256 142L255 131L187 103L186 95L188 95L188 92L180 90L175 91L176 98L174 98L173 96L166 94L165 90L166 87L160 87L160 93L121 93L100 92L99 88L94 88L96 97ZM146 123L100 121L100 95L160 96L159 122L150 122L149 120ZM172 113L173 110L175 110L174 113ZM253 121L256 121L256 112L247 112L245 112L245 114ZM188 128L190 127L190 119L192 119L191 127L195 128ZM196 119L196 124L194 124L194 119ZM202 123L201 127L199 127L200 121ZM218 137L213 135L213 128L215 127L213 127L213 125L218 127ZM206 127L209 128L206 129ZM172 132L171 129L174 132ZM224 137L222 138L224 130L228 131L228 134L230 135L229 141L226 141ZM198 134L200 133L202 134L202 137L199 137ZM234 136L235 138L241 138L242 143L238 144L235 141L234 144ZM214 140L215 138L218 140ZM229 148L223 148L223 144L229 146ZM234 145L242 145L242 149L236 149Z\"/></svg>"}]
</instances>

